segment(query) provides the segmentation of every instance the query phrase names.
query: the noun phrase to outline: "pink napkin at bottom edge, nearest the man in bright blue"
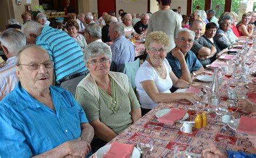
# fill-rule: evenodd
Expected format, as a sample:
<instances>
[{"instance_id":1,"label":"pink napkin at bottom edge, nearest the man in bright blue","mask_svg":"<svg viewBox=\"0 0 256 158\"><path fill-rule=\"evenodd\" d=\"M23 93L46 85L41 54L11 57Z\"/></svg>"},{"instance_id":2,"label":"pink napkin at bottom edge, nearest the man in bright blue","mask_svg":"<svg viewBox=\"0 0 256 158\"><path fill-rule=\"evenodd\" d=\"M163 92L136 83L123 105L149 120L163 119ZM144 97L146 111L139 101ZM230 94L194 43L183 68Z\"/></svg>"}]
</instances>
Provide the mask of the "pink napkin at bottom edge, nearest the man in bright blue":
<instances>
[{"instance_id":1,"label":"pink napkin at bottom edge, nearest the man in bright blue","mask_svg":"<svg viewBox=\"0 0 256 158\"><path fill-rule=\"evenodd\" d=\"M125 143L112 142L109 151L103 156L103 158L130 158L132 155L134 145L127 145Z\"/></svg>"}]
</instances>

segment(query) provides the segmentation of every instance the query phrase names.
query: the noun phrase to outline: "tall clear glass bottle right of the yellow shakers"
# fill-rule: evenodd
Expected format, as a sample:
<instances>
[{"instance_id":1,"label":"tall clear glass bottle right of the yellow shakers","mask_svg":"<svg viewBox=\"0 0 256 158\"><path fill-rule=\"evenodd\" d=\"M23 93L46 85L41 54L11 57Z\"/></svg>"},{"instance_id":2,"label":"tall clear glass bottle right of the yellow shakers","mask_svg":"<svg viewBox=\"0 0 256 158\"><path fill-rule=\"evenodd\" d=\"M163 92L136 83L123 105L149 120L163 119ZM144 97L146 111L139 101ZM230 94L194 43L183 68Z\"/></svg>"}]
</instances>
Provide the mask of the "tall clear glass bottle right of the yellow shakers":
<instances>
[{"instance_id":1,"label":"tall clear glass bottle right of the yellow shakers","mask_svg":"<svg viewBox=\"0 0 256 158\"><path fill-rule=\"evenodd\" d=\"M214 78L212 81L211 90L208 97L208 111L214 113L215 107L220 102L220 90L218 84L218 68L214 68Z\"/></svg>"}]
</instances>

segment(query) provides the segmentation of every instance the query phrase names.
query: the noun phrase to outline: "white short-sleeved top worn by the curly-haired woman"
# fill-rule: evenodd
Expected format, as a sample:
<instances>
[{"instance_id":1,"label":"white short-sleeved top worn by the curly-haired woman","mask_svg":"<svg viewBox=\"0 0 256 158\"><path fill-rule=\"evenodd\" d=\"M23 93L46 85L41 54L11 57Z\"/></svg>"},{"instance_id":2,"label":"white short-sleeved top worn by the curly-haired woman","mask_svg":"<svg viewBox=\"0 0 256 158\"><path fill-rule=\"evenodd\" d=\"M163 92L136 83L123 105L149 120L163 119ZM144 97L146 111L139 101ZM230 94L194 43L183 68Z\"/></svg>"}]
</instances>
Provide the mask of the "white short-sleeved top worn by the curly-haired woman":
<instances>
[{"instance_id":1,"label":"white short-sleeved top worn by the curly-haired woman","mask_svg":"<svg viewBox=\"0 0 256 158\"><path fill-rule=\"evenodd\" d=\"M145 61L138 69L135 77L136 91L138 94L138 99L143 108L152 109L157 106L142 86L142 82L146 80L153 80L157 86L159 93L171 93L170 89L172 87L172 79L170 77L170 72L172 71L167 59L163 61L166 78L162 79L157 74L156 70L150 65L149 62Z\"/></svg>"}]
</instances>

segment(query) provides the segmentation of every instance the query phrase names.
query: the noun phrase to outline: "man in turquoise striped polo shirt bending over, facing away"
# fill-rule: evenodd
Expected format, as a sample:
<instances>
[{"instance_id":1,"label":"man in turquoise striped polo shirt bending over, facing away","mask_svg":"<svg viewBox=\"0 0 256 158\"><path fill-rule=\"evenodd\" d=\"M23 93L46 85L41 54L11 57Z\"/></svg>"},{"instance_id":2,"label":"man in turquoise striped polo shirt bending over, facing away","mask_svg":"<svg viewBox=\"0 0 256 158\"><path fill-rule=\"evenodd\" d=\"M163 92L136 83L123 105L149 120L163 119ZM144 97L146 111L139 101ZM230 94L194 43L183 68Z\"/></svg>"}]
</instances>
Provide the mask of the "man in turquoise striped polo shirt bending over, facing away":
<instances>
[{"instance_id":1,"label":"man in turquoise striped polo shirt bending over, facing away","mask_svg":"<svg viewBox=\"0 0 256 158\"><path fill-rule=\"evenodd\" d=\"M25 23L22 26L22 32L29 44L37 44L48 51L54 63L56 83L61 84L60 86L64 84L64 81L88 73L83 61L82 50L66 32L53 29L50 26L42 26L34 21ZM79 81L72 80L69 84L76 86Z\"/></svg>"}]
</instances>

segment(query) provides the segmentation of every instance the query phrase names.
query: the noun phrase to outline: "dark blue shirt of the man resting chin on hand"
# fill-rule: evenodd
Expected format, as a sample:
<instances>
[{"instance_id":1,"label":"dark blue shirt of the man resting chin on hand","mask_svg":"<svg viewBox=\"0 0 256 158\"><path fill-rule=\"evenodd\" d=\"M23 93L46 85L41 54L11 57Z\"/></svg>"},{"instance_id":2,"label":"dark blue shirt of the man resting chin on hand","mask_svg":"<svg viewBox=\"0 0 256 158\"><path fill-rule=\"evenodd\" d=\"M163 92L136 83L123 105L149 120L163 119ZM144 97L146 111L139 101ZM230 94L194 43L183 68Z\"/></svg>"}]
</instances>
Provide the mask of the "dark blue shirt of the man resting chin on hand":
<instances>
[{"instance_id":1,"label":"dark blue shirt of the man resting chin on hand","mask_svg":"<svg viewBox=\"0 0 256 158\"><path fill-rule=\"evenodd\" d=\"M170 66L172 67L173 73L180 78L181 77L181 66L179 60L172 56L172 51L167 53L166 59L169 61ZM190 73L198 70L202 65L197 59L196 55L192 51L188 51L185 56L186 64Z\"/></svg>"}]
</instances>

